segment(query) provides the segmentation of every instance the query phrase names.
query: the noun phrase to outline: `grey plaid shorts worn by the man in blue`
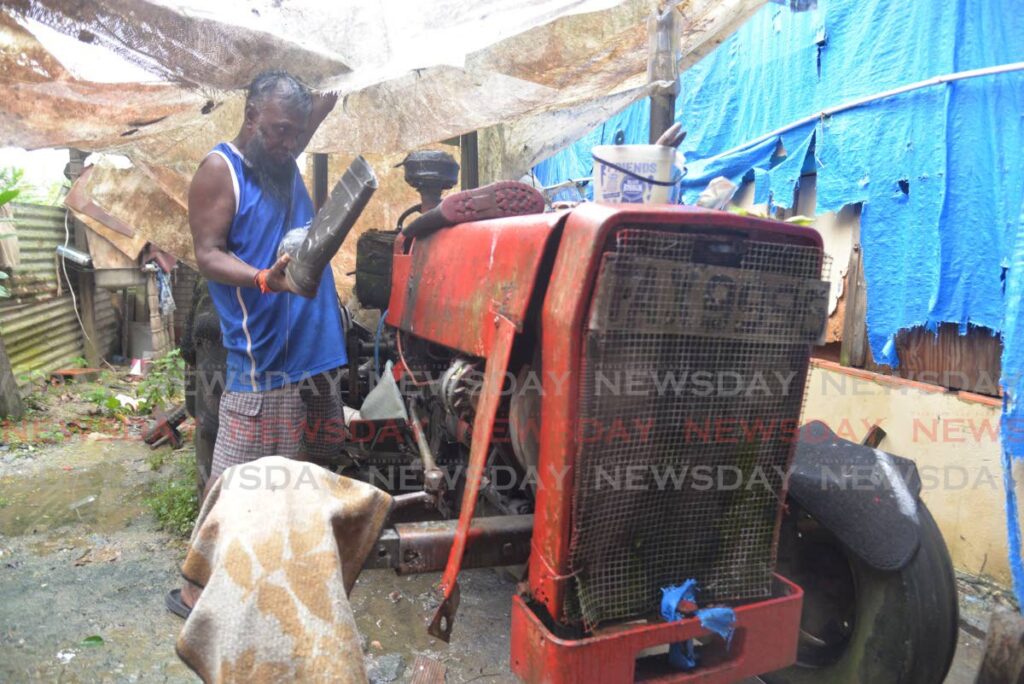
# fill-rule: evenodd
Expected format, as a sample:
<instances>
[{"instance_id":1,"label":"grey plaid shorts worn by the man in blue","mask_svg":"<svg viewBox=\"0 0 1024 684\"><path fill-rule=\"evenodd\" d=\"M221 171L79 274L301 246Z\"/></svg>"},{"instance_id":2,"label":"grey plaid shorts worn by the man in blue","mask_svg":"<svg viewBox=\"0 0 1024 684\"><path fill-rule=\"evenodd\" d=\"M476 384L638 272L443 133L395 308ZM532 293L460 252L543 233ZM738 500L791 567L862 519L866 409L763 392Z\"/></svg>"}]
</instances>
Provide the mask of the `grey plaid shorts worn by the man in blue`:
<instances>
[{"instance_id":1,"label":"grey plaid shorts worn by the man in blue","mask_svg":"<svg viewBox=\"0 0 1024 684\"><path fill-rule=\"evenodd\" d=\"M224 391L210 479L264 456L332 465L341 461L345 421L340 369L266 392Z\"/></svg>"}]
</instances>

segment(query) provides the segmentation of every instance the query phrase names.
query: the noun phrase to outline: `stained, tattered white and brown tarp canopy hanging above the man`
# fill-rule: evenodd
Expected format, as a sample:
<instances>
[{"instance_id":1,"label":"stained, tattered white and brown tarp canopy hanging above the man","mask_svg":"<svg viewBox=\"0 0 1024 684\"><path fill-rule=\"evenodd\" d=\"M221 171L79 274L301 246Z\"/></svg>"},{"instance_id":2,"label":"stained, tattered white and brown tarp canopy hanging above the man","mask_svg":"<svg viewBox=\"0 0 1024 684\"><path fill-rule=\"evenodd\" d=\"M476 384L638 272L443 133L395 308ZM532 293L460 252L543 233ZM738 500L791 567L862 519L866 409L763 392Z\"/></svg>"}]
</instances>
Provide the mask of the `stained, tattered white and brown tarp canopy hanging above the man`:
<instances>
[{"instance_id":1,"label":"stained, tattered white and brown tarp canopy hanging above the man","mask_svg":"<svg viewBox=\"0 0 1024 684\"><path fill-rule=\"evenodd\" d=\"M678 3L680 66L763 1ZM133 169L98 169L81 191L138 233L122 250L130 258L148 241L189 261L188 179L236 135L259 72L286 69L341 95L309 152L392 160L484 130L481 177L516 178L656 87L646 23L663 5L0 0L0 145L126 155ZM382 182L356 232L393 227L415 197L400 174L385 175L396 186Z\"/></svg>"}]
</instances>

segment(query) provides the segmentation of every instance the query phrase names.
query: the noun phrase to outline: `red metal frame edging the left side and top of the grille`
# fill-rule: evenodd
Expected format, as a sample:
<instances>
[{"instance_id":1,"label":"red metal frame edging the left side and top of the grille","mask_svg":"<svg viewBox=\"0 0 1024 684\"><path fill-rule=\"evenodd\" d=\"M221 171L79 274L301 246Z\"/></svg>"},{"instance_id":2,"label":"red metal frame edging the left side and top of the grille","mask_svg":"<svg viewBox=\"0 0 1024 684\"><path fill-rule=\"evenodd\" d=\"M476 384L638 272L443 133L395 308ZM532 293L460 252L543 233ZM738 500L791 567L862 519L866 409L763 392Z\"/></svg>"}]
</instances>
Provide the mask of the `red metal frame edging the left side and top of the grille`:
<instances>
[{"instance_id":1,"label":"red metal frame edging the left side and top of the grille","mask_svg":"<svg viewBox=\"0 0 1024 684\"><path fill-rule=\"evenodd\" d=\"M556 621L564 619L564 592L571 579L568 559L584 317L604 245L625 224L737 228L754 239L821 245L820 236L809 228L695 207L585 204L568 215L542 312L544 396L529 560L530 593Z\"/></svg>"}]
</instances>

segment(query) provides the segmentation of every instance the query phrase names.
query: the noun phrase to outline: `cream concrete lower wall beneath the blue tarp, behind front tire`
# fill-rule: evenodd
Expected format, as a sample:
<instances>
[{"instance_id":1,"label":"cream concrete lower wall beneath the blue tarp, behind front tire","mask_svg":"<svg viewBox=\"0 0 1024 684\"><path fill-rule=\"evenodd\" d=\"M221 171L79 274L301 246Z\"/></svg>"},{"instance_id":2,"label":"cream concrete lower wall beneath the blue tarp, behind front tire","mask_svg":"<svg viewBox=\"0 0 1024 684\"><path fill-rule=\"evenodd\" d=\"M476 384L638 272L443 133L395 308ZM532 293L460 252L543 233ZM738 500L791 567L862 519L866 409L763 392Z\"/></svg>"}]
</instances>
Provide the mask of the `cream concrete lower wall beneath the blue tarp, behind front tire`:
<instances>
[{"instance_id":1,"label":"cream concrete lower wall beneath the blue tarp, behind front tire","mask_svg":"<svg viewBox=\"0 0 1024 684\"><path fill-rule=\"evenodd\" d=\"M1009 587L999 405L988 396L815 360L804 421L823 421L855 441L871 425L884 428L881 448L918 464L922 498L956 569ZM1018 498L1024 497L1022 465L1014 472Z\"/></svg>"}]
</instances>

